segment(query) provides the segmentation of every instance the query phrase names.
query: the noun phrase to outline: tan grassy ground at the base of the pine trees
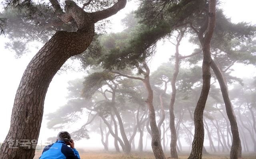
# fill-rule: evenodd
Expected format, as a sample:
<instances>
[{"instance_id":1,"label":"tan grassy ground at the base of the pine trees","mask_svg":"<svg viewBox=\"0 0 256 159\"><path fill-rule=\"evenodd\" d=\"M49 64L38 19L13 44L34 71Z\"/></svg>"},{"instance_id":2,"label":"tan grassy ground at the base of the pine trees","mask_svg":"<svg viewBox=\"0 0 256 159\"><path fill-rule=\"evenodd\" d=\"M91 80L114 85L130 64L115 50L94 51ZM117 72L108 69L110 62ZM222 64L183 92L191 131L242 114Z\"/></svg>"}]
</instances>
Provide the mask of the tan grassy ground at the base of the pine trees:
<instances>
[{"instance_id":1,"label":"tan grassy ground at the base of the pine trees","mask_svg":"<svg viewBox=\"0 0 256 159\"><path fill-rule=\"evenodd\" d=\"M104 151L89 151L84 152L78 149L80 152L81 159L154 159L154 154L150 151L138 153L133 152L129 155L124 153L115 153L115 152L104 152ZM42 153L42 150L37 150L34 159L38 159ZM180 154L179 159L187 159L187 154ZM166 153L166 158L170 155ZM209 154L204 155L202 159L229 159L228 153L216 153L216 154ZM256 153L243 153L243 159L256 159Z\"/></svg>"}]
</instances>

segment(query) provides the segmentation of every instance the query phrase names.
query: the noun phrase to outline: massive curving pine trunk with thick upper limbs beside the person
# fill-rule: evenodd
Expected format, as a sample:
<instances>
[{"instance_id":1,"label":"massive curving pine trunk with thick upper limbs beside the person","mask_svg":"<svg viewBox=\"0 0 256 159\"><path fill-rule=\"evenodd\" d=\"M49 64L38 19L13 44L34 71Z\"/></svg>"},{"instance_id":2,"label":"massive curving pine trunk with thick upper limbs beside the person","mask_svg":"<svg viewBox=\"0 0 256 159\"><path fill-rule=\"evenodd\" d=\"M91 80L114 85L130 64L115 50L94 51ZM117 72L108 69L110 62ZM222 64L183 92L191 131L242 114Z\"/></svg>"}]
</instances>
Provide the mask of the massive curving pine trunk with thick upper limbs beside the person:
<instances>
[{"instance_id":1,"label":"massive curving pine trunk with thick upper limbs beside the person","mask_svg":"<svg viewBox=\"0 0 256 159\"><path fill-rule=\"evenodd\" d=\"M44 99L52 78L68 58L82 53L90 45L95 22L116 14L126 5L126 0L118 0L107 10L87 13L72 0L66 0L64 13L57 0L50 2L59 18L65 23L74 20L78 30L55 33L28 64L14 99L10 130L0 149L1 159L33 159L35 149L31 148L32 143L29 148L17 142L24 139L37 142ZM14 145L18 144L18 148L10 148L8 144L11 141L14 141Z\"/></svg>"}]
</instances>

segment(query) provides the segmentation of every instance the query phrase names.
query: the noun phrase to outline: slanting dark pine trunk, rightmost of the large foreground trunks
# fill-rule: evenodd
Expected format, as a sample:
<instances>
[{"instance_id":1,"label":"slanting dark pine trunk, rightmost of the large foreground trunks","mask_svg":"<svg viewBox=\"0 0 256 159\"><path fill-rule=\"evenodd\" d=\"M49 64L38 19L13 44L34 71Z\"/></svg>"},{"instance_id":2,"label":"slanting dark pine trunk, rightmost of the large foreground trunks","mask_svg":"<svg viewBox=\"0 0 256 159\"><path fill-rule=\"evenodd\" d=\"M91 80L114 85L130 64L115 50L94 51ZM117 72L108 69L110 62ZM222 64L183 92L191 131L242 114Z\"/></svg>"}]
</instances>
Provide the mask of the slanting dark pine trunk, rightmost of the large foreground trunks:
<instances>
[{"instance_id":1,"label":"slanting dark pine trunk, rightmost of the large foreground trunks","mask_svg":"<svg viewBox=\"0 0 256 159\"><path fill-rule=\"evenodd\" d=\"M230 159L238 159L242 156L242 146L241 141L239 137L238 132L238 126L236 122L236 116L233 110L232 103L230 102L229 96L228 96L228 87L226 85L226 82L223 78L223 75L218 68L218 66L214 63L212 60L211 63L212 70L214 71L214 74L216 75L218 82L220 84L220 90L222 92L223 100L226 107L226 113L228 116L228 120L230 122L231 126L231 132L232 132L232 145L230 150Z\"/></svg>"}]
</instances>

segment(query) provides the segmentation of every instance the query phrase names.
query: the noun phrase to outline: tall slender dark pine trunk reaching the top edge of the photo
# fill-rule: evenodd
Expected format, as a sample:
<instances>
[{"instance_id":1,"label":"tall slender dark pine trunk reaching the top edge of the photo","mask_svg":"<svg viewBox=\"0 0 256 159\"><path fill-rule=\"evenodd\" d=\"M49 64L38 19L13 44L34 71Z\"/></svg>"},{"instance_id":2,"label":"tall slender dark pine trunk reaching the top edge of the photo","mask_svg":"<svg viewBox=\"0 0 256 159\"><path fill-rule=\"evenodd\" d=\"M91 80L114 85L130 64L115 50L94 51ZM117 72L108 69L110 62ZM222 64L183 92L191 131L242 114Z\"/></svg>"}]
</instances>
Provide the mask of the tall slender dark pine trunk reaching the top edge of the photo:
<instances>
[{"instance_id":1,"label":"tall slender dark pine trunk reaching the top edge of the photo","mask_svg":"<svg viewBox=\"0 0 256 159\"><path fill-rule=\"evenodd\" d=\"M210 63L211 63L211 53L210 53L210 41L215 26L215 17L216 17L216 0L209 0L208 8L208 24L202 26L198 32L198 39L202 45L203 50L203 64L202 64L202 77L203 77L203 86L202 91L196 105L194 112L194 124L195 124L195 133L194 140L192 142L192 150L188 159L202 159L202 148L204 143L204 123L203 123L203 113L206 100L210 90ZM207 26L207 30L206 30ZM205 36L204 32L206 30Z\"/></svg>"}]
</instances>

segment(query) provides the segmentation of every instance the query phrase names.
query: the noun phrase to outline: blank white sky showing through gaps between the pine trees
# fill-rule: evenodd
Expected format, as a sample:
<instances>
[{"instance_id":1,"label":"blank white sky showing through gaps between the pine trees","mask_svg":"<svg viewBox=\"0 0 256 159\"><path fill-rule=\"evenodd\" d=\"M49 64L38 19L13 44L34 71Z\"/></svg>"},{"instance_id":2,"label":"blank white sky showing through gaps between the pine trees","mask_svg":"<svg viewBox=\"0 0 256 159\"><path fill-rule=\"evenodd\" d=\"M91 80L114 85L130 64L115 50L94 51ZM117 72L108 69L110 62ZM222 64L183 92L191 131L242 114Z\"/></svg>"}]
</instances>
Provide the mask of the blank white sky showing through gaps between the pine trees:
<instances>
[{"instance_id":1,"label":"blank white sky showing through gaps between the pine trees","mask_svg":"<svg viewBox=\"0 0 256 159\"><path fill-rule=\"evenodd\" d=\"M232 22L252 22L252 24L256 24L256 1L255 0L226 0L223 4L224 13L226 16L232 18ZM118 12L116 15L110 18L112 22L112 29L108 31L118 32L122 31L123 27L120 23L120 20L124 18L125 13L130 12L130 10L135 10L134 2L128 2L126 8L122 11ZM26 69L30 59L36 54L38 49L34 48L32 45L31 53L27 53L26 55L22 56L20 59L16 59L14 57L15 53L9 50L4 49L4 42L8 41L5 37L0 37L0 108L1 108L1 116L0 116L0 142L4 141L6 134L8 133L9 126L10 126L10 117L12 112L12 105L14 102L14 97L16 94L16 90L22 74ZM180 54L187 55L190 54L193 50L191 44L187 42L182 42L180 45ZM154 71L160 63L167 62L170 55L174 54L174 47L170 45L170 43L165 43L163 45L162 42L158 43L158 51L154 56L153 60L151 61L150 67L151 70ZM252 77L256 76L255 67L252 66L244 66L244 65L235 65L232 67L235 69L235 74L242 78L242 77ZM68 71L68 73L62 73L60 75L55 75L53 78L48 92L46 94L45 104L44 104L44 115L48 114L49 112L54 112L59 106L66 104L66 96L67 96L67 89L68 80L82 78L84 76L83 73L76 73L72 71ZM59 131L53 131L46 128L46 120L43 118L42 127L40 131L40 140L44 141L48 137L52 137L57 135ZM72 132L72 130L68 130ZM145 133L146 136L146 133ZM91 139L89 140L82 140L76 142L76 145L84 146L90 145L90 147L102 147L100 136L91 134ZM111 141L110 141L111 142ZM110 143L111 145L112 143ZM148 143L150 145L150 143Z\"/></svg>"}]
</instances>

